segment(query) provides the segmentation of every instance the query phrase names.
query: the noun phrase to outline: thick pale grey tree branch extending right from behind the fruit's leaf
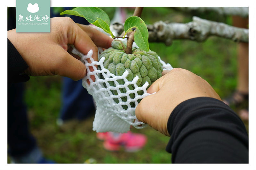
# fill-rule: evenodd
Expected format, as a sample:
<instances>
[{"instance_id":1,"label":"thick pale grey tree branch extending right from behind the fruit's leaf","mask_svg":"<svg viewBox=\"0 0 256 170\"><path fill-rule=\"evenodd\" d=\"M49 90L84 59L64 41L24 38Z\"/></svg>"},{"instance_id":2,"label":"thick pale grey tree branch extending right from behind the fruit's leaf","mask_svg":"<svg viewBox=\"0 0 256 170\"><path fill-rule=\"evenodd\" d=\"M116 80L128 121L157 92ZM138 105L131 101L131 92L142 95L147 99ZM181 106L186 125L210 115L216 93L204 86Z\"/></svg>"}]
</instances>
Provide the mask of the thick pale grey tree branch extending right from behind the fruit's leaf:
<instances>
[{"instance_id":1,"label":"thick pale grey tree branch extending right from behind the fruit's leaf","mask_svg":"<svg viewBox=\"0 0 256 170\"><path fill-rule=\"evenodd\" d=\"M248 29L229 26L224 23L193 17L193 21L181 23L164 23L158 21L148 26L149 41L164 42L171 45L174 39L204 41L209 36L219 36L233 41L248 42Z\"/></svg>"}]
</instances>

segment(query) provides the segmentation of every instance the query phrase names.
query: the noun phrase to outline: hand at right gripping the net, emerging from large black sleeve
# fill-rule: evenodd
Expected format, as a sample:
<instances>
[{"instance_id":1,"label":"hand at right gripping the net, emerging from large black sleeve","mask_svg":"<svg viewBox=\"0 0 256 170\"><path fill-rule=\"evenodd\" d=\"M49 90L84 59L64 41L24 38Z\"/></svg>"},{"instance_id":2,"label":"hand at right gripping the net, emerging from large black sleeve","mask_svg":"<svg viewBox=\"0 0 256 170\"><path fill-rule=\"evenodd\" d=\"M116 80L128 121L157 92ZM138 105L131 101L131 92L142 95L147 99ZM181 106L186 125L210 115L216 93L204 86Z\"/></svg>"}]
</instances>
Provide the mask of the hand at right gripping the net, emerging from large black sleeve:
<instances>
[{"instance_id":1,"label":"hand at right gripping the net, emerging from large black sleeve","mask_svg":"<svg viewBox=\"0 0 256 170\"><path fill-rule=\"evenodd\" d=\"M139 121L166 136L170 136L167 131L169 116L181 102L196 97L221 100L207 81L188 70L175 68L163 74L147 90L148 93L156 93L143 98L135 114Z\"/></svg>"}]
</instances>

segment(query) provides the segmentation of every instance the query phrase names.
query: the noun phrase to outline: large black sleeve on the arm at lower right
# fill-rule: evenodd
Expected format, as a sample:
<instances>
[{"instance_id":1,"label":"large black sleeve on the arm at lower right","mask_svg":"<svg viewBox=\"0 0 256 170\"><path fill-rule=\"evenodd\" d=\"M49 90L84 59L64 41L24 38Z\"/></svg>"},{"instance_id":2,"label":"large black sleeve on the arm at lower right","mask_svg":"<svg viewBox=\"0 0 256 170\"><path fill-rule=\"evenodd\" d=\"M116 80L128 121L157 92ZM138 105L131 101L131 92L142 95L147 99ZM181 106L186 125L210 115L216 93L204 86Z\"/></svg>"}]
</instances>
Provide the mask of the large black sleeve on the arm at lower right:
<instances>
[{"instance_id":1,"label":"large black sleeve on the arm at lower right","mask_svg":"<svg viewBox=\"0 0 256 170\"><path fill-rule=\"evenodd\" d=\"M248 163L244 123L220 100L199 97L180 103L167 129L172 163Z\"/></svg>"}]
</instances>

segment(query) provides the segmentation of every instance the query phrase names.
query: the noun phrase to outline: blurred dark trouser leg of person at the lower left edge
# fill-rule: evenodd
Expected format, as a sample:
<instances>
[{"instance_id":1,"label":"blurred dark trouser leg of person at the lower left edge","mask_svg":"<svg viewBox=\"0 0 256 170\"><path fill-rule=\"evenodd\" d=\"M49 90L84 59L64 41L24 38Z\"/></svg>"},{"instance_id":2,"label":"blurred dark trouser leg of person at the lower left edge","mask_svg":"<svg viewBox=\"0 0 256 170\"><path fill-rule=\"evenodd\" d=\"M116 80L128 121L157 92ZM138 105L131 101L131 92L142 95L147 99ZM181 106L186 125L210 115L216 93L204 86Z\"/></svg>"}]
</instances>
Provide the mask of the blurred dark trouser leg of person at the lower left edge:
<instances>
[{"instance_id":1,"label":"blurred dark trouser leg of person at the lower left edge","mask_svg":"<svg viewBox=\"0 0 256 170\"><path fill-rule=\"evenodd\" d=\"M42 152L38 149L35 138L29 133L23 89L23 83L8 87L8 153L14 163L37 163L42 158Z\"/></svg>"}]
</instances>

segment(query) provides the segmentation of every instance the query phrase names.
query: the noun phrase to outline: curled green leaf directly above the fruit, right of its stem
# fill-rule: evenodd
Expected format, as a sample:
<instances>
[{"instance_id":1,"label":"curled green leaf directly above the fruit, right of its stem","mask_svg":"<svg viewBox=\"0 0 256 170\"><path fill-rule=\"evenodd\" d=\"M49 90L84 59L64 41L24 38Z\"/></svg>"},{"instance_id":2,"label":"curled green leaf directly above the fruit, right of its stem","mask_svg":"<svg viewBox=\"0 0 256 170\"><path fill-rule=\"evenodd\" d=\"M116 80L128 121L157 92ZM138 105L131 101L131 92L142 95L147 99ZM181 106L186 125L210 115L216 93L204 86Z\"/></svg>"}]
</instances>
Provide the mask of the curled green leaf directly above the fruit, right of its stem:
<instances>
[{"instance_id":1,"label":"curled green leaf directly above the fruit, right of its stem","mask_svg":"<svg viewBox=\"0 0 256 170\"><path fill-rule=\"evenodd\" d=\"M137 16L132 16L126 19L124 23L125 34L133 31L135 28L134 41L142 50L149 51L148 45L148 28L144 21ZM125 35L124 35L125 36Z\"/></svg>"}]
</instances>

